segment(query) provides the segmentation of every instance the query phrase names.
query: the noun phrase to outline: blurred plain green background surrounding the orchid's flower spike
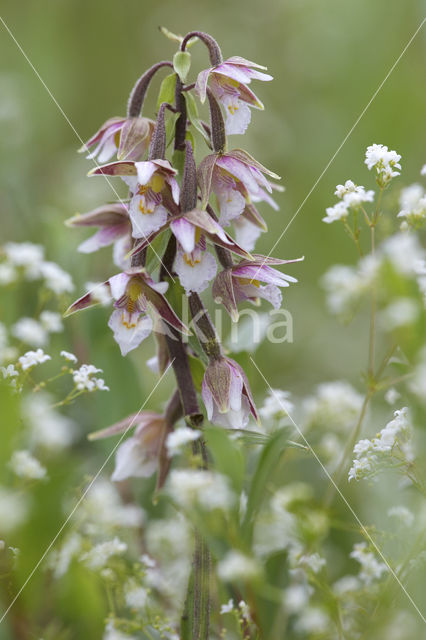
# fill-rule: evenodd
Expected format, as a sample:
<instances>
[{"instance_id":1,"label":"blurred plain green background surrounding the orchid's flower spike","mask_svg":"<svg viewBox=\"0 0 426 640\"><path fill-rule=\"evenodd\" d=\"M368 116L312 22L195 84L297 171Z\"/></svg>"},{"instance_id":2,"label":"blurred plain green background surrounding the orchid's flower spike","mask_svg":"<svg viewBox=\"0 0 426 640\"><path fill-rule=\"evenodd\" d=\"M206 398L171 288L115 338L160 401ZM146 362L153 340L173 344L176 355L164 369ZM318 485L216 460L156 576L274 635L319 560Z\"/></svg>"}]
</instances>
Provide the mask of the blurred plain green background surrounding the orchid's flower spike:
<instances>
[{"instance_id":1,"label":"blurred plain green background surrounding the orchid's flower spike","mask_svg":"<svg viewBox=\"0 0 426 640\"><path fill-rule=\"evenodd\" d=\"M76 211L114 197L102 179L86 178L91 164L77 155L80 141L75 132L86 140L108 117L124 115L136 78L174 53L173 43L158 31L164 25L177 33L207 31L219 41L225 57L241 55L264 64L275 78L273 83L257 84L255 91L266 110L254 111L246 136L232 141L283 177L281 210L261 208L270 231L257 249L267 254L425 14L422 0L3 0L3 19L75 131L0 25L1 243L44 244L47 259L73 275L76 296L86 281L103 280L115 272L108 249L92 256L77 254L75 248L87 234L63 224ZM202 45L191 51L194 69L207 66ZM305 255L305 261L287 268L299 279L284 297L293 316L294 342L265 343L255 356L273 387L296 396L337 378L359 387L367 357L367 323L361 319L348 329L330 319L318 284L329 266L352 264L356 254L340 226L325 225L321 218L325 207L335 202L336 184L351 178L374 188L363 164L365 148L374 142L402 155L401 187L419 179L426 162L425 54L423 28L274 250L277 257ZM145 115L151 115L155 99L153 89ZM395 190L387 197L395 207ZM15 304L16 317L32 313L26 298ZM9 314L4 301L3 314ZM99 309L67 320L65 348L75 350L83 362L102 367L112 389L83 400L76 410L87 431L137 410L155 382L144 364L154 353L153 342L122 358L106 326L107 314ZM61 337L57 343L60 348L62 341ZM261 399L265 385L248 360L245 364ZM159 408L172 388L169 375L150 408ZM93 472L90 464L88 471ZM58 485L49 527L43 530L43 523L36 523L40 545L34 549L34 561L60 521L61 491ZM28 567L32 564L29 558ZM68 596L73 594L63 595ZM76 610L76 618L83 608Z\"/></svg>"}]
</instances>

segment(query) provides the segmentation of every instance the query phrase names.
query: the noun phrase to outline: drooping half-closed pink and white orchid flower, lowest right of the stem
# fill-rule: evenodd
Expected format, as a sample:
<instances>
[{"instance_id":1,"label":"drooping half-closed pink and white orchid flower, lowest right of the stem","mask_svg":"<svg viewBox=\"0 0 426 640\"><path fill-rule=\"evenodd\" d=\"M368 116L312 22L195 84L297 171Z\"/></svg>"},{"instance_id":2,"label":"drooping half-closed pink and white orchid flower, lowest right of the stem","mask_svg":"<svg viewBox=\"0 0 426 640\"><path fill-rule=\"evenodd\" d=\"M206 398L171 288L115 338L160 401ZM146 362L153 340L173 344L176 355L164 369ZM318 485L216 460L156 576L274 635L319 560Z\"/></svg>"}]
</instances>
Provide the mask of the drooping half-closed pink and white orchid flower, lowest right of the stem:
<instances>
[{"instance_id":1,"label":"drooping half-closed pink and white orchid flower, lowest right of the stem","mask_svg":"<svg viewBox=\"0 0 426 640\"><path fill-rule=\"evenodd\" d=\"M208 419L225 428L244 429L250 414L258 421L256 406L242 367L221 357L210 360L201 386Z\"/></svg>"}]
</instances>

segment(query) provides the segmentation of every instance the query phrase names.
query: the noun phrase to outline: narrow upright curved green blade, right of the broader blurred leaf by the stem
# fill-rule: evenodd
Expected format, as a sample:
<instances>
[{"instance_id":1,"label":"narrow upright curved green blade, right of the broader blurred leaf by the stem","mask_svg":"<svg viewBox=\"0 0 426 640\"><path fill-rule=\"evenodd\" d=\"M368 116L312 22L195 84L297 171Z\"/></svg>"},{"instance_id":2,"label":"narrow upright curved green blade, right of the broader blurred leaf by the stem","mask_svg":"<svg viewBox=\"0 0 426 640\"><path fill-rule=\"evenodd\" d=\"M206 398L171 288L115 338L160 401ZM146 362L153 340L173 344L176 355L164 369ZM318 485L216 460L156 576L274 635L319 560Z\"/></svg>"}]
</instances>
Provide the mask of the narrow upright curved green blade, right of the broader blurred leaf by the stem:
<instances>
[{"instance_id":1,"label":"narrow upright curved green blade, right of the broader blurred leaf by the stem","mask_svg":"<svg viewBox=\"0 0 426 640\"><path fill-rule=\"evenodd\" d=\"M278 465L283 451L289 446L288 435L289 429L285 427L275 431L260 454L248 495L247 510L243 525L248 541L251 541L254 517L265 499L266 487L269 480Z\"/></svg>"}]
</instances>

